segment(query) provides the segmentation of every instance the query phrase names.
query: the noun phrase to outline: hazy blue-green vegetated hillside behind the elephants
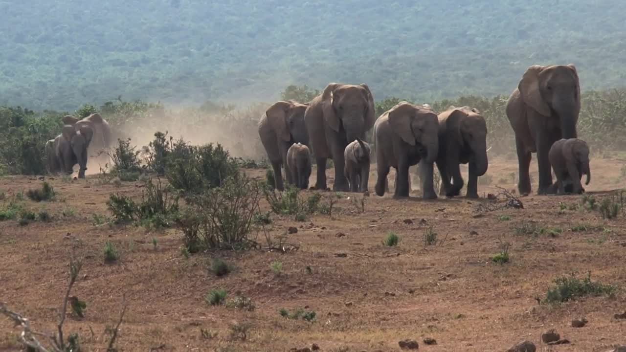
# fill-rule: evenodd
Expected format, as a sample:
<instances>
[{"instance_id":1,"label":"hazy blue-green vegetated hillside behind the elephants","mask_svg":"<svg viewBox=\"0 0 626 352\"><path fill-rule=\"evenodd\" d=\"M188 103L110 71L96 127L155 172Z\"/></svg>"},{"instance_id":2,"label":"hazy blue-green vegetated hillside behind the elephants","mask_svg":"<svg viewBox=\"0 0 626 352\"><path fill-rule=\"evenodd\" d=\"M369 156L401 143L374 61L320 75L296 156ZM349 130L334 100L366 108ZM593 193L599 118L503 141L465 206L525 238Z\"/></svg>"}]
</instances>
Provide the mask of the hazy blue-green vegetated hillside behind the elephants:
<instances>
[{"instance_id":1,"label":"hazy blue-green vegetated hillside behind the elephants","mask_svg":"<svg viewBox=\"0 0 626 352\"><path fill-rule=\"evenodd\" d=\"M626 81L617 0L0 1L0 104L71 110L118 95L270 100L368 83L376 99L508 93L528 65Z\"/></svg>"}]
</instances>

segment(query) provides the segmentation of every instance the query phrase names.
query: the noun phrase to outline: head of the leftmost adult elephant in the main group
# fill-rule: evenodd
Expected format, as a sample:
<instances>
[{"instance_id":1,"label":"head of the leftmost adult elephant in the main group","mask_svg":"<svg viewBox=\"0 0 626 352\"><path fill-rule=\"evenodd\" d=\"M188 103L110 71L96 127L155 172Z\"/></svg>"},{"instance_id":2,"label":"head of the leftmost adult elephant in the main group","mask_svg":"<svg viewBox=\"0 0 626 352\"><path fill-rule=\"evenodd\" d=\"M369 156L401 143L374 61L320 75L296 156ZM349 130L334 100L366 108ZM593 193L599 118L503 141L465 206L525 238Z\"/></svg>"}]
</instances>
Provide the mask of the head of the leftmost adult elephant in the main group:
<instances>
[{"instance_id":1,"label":"head of the leftmost adult elephant in the main group","mask_svg":"<svg viewBox=\"0 0 626 352\"><path fill-rule=\"evenodd\" d=\"M279 140L309 145L309 134L304 124L304 111L307 110L307 106L309 105L306 103L294 100L277 101L265 111L267 120Z\"/></svg>"}]
</instances>

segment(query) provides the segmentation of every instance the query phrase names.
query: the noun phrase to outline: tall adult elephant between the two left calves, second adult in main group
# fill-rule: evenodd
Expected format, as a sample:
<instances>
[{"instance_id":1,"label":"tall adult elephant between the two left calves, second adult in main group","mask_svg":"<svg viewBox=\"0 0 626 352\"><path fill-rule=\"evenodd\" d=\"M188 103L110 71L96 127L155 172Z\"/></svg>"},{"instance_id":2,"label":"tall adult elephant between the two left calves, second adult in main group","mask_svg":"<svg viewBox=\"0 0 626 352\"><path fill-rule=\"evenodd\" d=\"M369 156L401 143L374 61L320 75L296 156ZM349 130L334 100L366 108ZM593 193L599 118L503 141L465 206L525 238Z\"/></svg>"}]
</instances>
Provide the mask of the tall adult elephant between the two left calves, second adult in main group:
<instances>
[{"instance_id":1,"label":"tall adult elephant between the two left calves, second adult in main group","mask_svg":"<svg viewBox=\"0 0 626 352\"><path fill-rule=\"evenodd\" d=\"M374 98L365 83L345 85L329 83L304 113L310 147L316 157L316 189L326 189L326 160L332 158L335 180L332 189L350 190L344 173L344 150L348 143L361 138L374 126Z\"/></svg>"}]
</instances>

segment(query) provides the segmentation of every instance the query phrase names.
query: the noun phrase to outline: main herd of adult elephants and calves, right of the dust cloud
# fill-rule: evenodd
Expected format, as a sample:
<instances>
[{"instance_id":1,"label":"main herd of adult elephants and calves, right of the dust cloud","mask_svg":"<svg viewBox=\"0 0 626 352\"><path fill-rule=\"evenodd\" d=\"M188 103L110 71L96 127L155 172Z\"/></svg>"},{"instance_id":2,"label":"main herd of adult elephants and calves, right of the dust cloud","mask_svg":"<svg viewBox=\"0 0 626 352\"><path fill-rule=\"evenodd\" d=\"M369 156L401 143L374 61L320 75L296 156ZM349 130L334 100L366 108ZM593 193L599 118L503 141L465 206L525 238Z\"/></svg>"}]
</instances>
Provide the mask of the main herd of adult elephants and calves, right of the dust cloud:
<instances>
[{"instance_id":1,"label":"main herd of adult elephants and calves, right of the dust cloud","mask_svg":"<svg viewBox=\"0 0 626 352\"><path fill-rule=\"evenodd\" d=\"M580 83L574 65L530 66L511 93L506 115L519 162L518 190L531 192L531 153L537 154L538 194L579 194L580 179L590 182L589 148L577 138ZM374 128L376 194L388 190L387 175L396 169L394 197L409 196L409 167L419 165L424 199L438 197L433 185L434 163L441 175L439 195L460 194L464 180L460 164L469 164L466 196L478 198L478 177L488 168L487 125L471 106L436 113L430 105L401 101L374 116L374 99L366 84L330 83L313 100L278 101L259 122L259 136L274 169L276 189L286 182L309 187L312 158L317 179L312 189L327 189L326 162L334 163L333 190L366 192L371 148L364 142ZM552 180L552 170L557 178Z\"/></svg>"}]
</instances>

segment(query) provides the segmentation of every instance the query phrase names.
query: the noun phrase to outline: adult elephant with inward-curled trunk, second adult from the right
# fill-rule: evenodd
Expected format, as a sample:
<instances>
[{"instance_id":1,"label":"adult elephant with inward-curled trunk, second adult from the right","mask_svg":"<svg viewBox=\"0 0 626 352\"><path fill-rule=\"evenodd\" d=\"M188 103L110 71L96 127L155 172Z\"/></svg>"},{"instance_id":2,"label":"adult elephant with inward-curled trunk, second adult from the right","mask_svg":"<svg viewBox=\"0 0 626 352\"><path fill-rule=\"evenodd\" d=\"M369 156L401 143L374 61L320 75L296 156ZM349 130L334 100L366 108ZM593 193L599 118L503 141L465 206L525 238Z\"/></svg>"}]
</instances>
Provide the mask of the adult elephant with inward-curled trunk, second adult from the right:
<instances>
[{"instance_id":1,"label":"adult elephant with inward-curled trunk, second adult from the right","mask_svg":"<svg viewBox=\"0 0 626 352\"><path fill-rule=\"evenodd\" d=\"M476 108L463 106L439 114L439 154L437 168L441 175L439 194L459 195L463 188L460 164L469 163L466 197L478 198L478 177L485 175L487 160L487 125ZM450 182L452 179L452 183Z\"/></svg>"}]
</instances>

